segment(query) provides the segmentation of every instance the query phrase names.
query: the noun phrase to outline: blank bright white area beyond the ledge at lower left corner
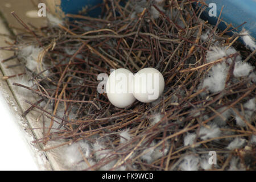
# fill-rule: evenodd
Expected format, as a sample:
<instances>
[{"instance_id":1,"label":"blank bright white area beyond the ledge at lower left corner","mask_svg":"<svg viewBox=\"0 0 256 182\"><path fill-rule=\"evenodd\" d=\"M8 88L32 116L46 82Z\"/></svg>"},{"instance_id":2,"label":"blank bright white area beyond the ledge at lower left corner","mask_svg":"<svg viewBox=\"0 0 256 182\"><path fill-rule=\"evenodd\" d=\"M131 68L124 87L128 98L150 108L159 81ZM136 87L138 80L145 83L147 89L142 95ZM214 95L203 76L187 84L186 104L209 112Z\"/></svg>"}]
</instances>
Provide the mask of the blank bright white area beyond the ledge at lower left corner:
<instances>
[{"instance_id":1,"label":"blank bright white area beyond the ledge at lower left corner","mask_svg":"<svg viewBox=\"0 0 256 182\"><path fill-rule=\"evenodd\" d=\"M38 170L24 131L1 92L0 115L0 170Z\"/></svg>"}]
</instances>

